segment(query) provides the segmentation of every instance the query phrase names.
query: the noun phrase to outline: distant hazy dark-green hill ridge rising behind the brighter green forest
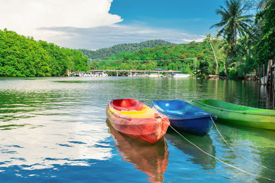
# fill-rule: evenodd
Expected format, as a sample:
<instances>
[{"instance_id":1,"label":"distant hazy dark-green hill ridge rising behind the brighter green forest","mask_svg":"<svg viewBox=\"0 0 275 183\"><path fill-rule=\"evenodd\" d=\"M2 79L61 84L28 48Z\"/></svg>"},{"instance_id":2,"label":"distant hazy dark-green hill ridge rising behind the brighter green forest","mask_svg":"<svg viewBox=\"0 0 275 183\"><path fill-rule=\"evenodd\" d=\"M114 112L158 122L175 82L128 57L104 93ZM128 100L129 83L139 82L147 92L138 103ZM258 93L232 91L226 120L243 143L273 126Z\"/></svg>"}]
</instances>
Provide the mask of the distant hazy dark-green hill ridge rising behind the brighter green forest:
<instances>
[{"instance_id":1,"label":"distant hazy dark-green hill ridge rising behind the brighter green forest","mask_svg":"<svg viewBox=\"0 0 275 183\"><path fill-rule=\"evenodd\" d=\"M140 43L129 43L129 44L125 43L120 45L114 45L113 47L102 48L96 51L91 51L87 49L80 49L80 50L83 52L83 55L88 56L88 58L92 60L92 59L107 59L109 58L109 56L122 51L134 52L144 48L153 48L157 46L170 46L170 45L175 45L175 43L168 42L165 40L147 40Z\"/></svg>"}]
</instances>

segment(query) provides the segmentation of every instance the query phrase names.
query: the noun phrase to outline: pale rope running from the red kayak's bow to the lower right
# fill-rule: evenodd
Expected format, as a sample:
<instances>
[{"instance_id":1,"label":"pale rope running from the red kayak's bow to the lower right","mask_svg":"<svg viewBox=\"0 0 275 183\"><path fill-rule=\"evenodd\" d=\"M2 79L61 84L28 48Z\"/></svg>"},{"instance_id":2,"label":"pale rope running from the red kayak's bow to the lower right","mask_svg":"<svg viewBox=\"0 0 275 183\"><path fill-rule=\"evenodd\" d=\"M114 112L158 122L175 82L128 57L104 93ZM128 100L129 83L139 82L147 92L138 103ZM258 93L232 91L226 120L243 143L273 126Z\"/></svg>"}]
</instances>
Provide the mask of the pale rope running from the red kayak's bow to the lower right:
<instances>
[{"instance_id":1,"label":"pale rope running from the red kayak's bow to the lower right","mask_svg":"<svg viewBox=\"0 0 275 183\"><path fill-rule=\"evenodd\" d=\"M164 118L162 118L162 119L164 119ZM166 121L166 120L164 119L164 121ZM214 122L214 121L213 121L213 122ZM185 136L183 136L182 134L180 134L179 132L177 132L177 130L175 130L175 128L172 127L172 126L170 125L169 121L166 121L166 123L168 123L169 126L170 126L177 134L179 134L179 136L181 136L182 138L184 138L184 140L186 140L188 143L190 143L190 144L192 144L193 146L197 147L197 149L199 149L200 151L202 151L204 154L207 154L208 156L211 156L212 158L218 160L219 162L222 162L223 164L228 165L228 167L232 167L232 168L237 169L237 170L239 170L239 171L241 171L241 172L243 172L243 173L246 173L246 174L248 174L248 175L253 175L253 176L258 177L258 178L263 178L263 179L265 179L265 180L270 180L270 181L274 181L274 182L275 182L275 180L273 180L273 179L265 178L265 177L263 177L263 176L261 176L261 175L256 175L256 174L254 174L254 173L250 173L250 172L248 172L248 171L244 171L243 169L240 169L240 168L238 168L238 167L234 167L232 164L228 164L227 162L224 162L223 160L217 158L216 156L213 156L212 154L209 154L208 152L203 151L203 149L201 149L200 147L198 147L197 145L195 145L194 143L192 143L191 141L189 141Z\"/></svg>"}]
</instances>

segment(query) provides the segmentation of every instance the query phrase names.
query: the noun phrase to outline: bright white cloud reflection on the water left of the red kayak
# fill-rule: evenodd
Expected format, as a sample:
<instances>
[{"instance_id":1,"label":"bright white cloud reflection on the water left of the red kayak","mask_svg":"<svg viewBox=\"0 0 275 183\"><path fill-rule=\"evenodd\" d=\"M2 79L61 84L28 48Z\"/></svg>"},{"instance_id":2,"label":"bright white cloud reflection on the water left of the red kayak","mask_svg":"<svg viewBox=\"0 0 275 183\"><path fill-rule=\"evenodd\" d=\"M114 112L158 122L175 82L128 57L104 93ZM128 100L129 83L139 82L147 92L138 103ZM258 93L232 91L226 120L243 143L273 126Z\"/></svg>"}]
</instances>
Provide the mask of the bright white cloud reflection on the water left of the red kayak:
<instances>
[{"instance_id":1,"label":"bright white cloud reflection on the water left of the red kayak","mask_svg":"<svg viewBox=\"0 0 275 183\"><path fill-rule=\"evenodd\" d=\"M111 147L102 143L110 135L97 123L41 123L39 119L28 119L28 123L31 125L1 131L0 167L89 166L89 159L107 160L112 156Z\"/></svg>"}]
</instances>

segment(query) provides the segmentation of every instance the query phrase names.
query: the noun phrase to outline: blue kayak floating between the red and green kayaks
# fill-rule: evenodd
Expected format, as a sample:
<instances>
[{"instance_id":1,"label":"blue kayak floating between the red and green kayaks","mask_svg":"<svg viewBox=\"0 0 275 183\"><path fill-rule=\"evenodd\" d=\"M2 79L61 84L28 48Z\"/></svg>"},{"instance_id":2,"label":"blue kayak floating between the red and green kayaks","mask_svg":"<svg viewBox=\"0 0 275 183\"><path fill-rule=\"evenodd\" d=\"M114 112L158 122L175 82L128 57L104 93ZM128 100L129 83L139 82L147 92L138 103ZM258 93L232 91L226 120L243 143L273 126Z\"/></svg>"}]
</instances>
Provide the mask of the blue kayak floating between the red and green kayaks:
<instances>
[{"instance_id":1,"label":"blue kayak floating between the red and green kayaks","mask_svg":"<svg viewBox=\"0 0 275 183\"><path fill-rule=\"evenodd\" d=\"M151 108L165 114L175 129L198 136L208 134L213 126L212 119L217 119L215 115L183 100L152 101Z\"/></svg>"}]
</instances>

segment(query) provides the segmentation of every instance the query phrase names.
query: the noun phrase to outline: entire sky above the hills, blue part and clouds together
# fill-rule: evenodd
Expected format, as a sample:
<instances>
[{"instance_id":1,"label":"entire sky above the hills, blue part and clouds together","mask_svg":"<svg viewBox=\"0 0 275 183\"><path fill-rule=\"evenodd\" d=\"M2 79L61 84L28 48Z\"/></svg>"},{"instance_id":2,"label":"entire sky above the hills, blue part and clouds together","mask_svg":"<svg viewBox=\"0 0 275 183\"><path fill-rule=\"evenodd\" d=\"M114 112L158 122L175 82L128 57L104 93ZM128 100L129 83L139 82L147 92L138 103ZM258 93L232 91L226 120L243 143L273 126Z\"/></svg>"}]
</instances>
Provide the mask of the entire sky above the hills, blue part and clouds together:
<instances>
[{"instance_id":1,"label":"entire sky above the hills, blue part and clouds together","mask_svg":"<svg viewBox=\"0 0 275 183\"><path fill-rule=\"evenodd\" d=\"M162 39L201 41L223 0L0 0L0 29L73 49Z\"/></svg>"}]
</instances>

